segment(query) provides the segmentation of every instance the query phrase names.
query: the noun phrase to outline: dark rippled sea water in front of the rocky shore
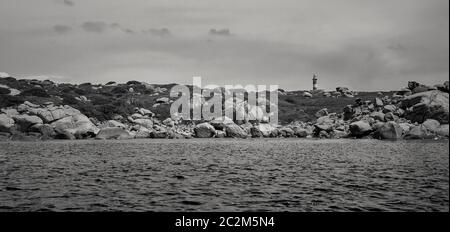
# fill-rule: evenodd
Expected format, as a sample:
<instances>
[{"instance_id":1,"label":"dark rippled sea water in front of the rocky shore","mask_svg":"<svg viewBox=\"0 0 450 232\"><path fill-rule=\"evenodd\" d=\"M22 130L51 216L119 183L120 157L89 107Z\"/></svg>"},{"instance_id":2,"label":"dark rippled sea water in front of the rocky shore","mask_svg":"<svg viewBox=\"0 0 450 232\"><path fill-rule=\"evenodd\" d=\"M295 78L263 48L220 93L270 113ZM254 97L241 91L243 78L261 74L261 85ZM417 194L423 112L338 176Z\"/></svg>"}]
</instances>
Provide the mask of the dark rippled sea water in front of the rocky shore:
<instances>
[{"instance_id":1,"label":"dark rippled sea water in front of the rocky shore","mask_svg":"<svg viewBox=\"0 0 450 232\"><path fill-rule=\"evenodd\" d=\"M448 141L0 143L0 211L448 211Z\"/></svg>"}]
</instances>

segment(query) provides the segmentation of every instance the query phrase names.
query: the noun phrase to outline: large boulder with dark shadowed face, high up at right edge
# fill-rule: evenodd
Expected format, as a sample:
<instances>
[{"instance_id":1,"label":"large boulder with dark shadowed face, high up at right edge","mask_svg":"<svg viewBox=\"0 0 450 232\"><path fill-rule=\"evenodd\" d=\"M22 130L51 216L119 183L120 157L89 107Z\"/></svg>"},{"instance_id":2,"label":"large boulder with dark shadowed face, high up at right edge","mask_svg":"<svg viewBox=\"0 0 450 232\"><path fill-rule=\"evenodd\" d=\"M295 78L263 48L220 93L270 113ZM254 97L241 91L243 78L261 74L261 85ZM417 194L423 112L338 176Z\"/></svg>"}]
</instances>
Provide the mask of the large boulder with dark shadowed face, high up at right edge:
<instances>
[{"instance_id":1,"label":"large boulder with dark shadowed face, high up at right edge","mask_svg":"<svg viewBox=\"0 0 450 232\"><path fill-rule=\"evenodd\" d=\"M404 98L401 107L406 109L406 118L412 122L435 119L441 124L448 124L448 98L448 93L439 90L421 92Z\"/></svg>"}]
</instances>

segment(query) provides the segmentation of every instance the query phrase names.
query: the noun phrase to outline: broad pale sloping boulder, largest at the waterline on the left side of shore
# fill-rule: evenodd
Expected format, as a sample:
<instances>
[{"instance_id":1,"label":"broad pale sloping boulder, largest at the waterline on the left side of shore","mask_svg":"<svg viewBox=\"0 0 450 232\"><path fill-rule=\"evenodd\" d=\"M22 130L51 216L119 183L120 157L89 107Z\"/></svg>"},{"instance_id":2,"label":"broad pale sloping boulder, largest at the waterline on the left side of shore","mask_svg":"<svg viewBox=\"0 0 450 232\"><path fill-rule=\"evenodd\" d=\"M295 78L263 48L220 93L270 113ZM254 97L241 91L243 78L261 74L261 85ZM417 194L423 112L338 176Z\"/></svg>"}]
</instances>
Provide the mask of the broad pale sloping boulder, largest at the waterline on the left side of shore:
<instances>
[{"instance_id":1,"label":"broad pale sloping boulder, largest at the waterline on the left side of shore","mask_svg":"<svg viewBox=\"0 0 450 232\"><path fill-rule=\"evenodd\" d=\"M65 117L50 125L57 133L67 132L76 138L94 137L99 132L99 129L83 114Z\"/></svg>"}]
</instances>

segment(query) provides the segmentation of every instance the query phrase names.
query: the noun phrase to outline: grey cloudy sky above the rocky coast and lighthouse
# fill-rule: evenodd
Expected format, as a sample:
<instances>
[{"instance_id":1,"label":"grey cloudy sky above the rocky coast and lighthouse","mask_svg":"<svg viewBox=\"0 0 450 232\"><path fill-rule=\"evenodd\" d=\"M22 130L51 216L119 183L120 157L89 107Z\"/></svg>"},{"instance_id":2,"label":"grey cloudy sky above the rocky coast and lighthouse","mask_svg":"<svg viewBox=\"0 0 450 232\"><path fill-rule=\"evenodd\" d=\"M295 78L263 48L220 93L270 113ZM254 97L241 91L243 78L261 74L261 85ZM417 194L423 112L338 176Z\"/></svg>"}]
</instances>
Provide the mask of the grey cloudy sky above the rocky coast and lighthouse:
<instances>
[{"instance_id":1,"label":"grey cloudy sky above the rocky coast and lighthouse","mask_svg":"<svg viewBox=\"0 0 450 232\"><path fill-rule=\"evenodd\" d=\"M448 0L0 0L0 71L398 89L449 76Z\"/></svg>"}]
</instances>

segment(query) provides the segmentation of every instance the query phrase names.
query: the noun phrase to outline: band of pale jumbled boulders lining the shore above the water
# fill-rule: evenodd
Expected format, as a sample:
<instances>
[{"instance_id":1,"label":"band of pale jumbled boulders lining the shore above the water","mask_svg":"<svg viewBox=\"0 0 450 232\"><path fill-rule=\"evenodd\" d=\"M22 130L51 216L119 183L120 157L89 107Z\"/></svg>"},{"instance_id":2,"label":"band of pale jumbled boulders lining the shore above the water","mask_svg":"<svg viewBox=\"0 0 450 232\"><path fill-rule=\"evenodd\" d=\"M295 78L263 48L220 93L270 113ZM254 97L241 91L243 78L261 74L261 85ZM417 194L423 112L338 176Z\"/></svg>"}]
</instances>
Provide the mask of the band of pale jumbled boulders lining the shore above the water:
<instances>
[{"instance_id":1,"label":"band of pale jumbled boulders lining the shore above the water","mask_svg":"<svg viewBox=\"0 0 450 232\"><path fill-rule=\"evenodd\" d=\"M341 113L329 113L324 108L315 114L315 120L293 121L286 125L271 125L264 119L233 121L227 117L211 121L160 120L143 107L135 107L131 115L115 115L113 119L100 121L70 105L25 101L1 109L0 141L269 137L448 139L448 88L448 82L435 87L410 82L408 88L392 96L379 93L366 101L351 96L354 104L346 106ZM156 102L170 103L168 98Z\"/></svg>"}]
</instances>

